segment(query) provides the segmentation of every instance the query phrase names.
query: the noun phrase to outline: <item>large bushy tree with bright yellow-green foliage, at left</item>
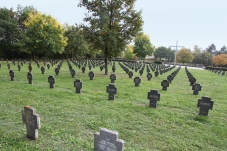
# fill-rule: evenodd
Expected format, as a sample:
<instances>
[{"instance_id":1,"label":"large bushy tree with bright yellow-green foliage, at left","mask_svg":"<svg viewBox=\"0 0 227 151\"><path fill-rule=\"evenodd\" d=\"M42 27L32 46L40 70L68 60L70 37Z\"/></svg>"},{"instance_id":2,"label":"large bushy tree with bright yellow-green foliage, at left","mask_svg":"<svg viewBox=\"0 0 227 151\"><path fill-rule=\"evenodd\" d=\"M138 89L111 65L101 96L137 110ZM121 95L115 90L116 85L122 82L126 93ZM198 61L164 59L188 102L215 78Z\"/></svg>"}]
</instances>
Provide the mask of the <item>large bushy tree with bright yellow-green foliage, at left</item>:
<instances>
[{"instance_id":1,"label":"large bushy tree with bright yellow-green foliage, at left","mask_svg":"<svg viewBox=\"0 0 227 151\"><path fill-rule=\"evenodd\" d=\"M64 51L67 38L56 19L41 13L30 13L24 24L27 29L20 45L24 51L33 53L34 58L35 55L47 57Z\"/></svg>"}]
</instances>

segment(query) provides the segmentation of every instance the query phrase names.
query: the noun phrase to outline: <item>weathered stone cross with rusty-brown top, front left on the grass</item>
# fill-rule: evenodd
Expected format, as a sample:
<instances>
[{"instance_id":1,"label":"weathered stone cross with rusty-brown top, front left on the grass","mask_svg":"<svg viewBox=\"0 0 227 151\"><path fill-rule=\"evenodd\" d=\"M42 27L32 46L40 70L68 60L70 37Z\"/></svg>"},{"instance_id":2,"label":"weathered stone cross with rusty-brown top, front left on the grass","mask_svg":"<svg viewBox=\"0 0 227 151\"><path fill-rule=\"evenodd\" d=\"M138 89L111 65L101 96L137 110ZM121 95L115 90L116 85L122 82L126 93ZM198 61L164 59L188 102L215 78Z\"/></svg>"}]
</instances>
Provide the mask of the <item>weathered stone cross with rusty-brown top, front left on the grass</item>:
<instances>
[{"instance_id":1,"label":"weathered stone cross with rusty-brown top, front left on the grass","mask_svg":"<svg viewBox=\"0 0 227 151\"><path fill-rule=\"evenodd\" d=\"M40 117L36 114L36 109L30 106L25 106L22 111L22 120L26 124L27 138L38 139L38 129L40 129Z\"/></svg>"}]
</instances>

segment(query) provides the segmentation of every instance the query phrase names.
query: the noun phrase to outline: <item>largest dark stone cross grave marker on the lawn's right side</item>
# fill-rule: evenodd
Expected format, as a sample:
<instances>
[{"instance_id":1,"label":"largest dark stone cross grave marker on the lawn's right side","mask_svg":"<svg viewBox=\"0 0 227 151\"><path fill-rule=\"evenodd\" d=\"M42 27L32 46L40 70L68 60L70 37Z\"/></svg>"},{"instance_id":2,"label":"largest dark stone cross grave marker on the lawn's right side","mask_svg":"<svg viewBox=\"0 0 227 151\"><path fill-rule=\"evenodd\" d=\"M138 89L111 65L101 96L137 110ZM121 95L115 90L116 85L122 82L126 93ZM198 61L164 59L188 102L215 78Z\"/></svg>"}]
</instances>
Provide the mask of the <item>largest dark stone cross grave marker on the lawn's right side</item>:
<instances>
[{"instance_id":1,"label":"largest dark stone cross grave marker on the lawn's right side","mask_svg":"<svg viewBox=\"0 0 227 151\"><path fill-rule=\"evenodd\" d=\"M213 109L214 101L211 100L209 97L202 97L202 99L198 99L197 107L199 109L199 115L207 116L209 109Z\"/></svg>"}]
</instances>

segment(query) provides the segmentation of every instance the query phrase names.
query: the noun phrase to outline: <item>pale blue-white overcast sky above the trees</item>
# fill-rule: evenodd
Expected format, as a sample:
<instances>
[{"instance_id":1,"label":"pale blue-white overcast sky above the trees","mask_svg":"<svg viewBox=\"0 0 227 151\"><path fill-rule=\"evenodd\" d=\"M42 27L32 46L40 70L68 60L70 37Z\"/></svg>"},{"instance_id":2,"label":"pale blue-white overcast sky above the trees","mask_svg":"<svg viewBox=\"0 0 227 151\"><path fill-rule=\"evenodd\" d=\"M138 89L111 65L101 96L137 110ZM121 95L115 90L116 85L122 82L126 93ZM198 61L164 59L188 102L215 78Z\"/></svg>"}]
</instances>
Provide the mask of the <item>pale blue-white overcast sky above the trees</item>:
<instances>
[{"instance_id":1,"label":"pale blue-white overcast sky above the trees","mask_svg":"<svg viewBox=\"0 0 227 151\"><path fill-rule=\"evenodd\" d=\"M41 13L60 23L83 23L85 9L77 7L79 0L0 0L0 6L14 8L32 5ZM227 0L137 0L136 10L142 10L143 31L151 43L179 46L191 50L194 45L206 49L214 43L217 50L227 46Z\"/></svg>"}]
</instances>

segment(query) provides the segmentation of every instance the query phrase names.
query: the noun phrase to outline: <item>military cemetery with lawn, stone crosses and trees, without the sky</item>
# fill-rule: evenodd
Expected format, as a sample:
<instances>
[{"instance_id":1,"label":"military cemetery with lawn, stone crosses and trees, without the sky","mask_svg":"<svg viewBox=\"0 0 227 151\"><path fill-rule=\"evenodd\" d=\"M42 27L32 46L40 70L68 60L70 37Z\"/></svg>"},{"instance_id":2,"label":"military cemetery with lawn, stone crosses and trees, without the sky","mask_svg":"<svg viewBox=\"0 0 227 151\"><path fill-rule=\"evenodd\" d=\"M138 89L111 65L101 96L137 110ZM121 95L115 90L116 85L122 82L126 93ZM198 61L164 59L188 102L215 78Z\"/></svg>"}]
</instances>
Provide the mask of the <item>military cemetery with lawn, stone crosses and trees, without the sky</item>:
<instances>
[{"instance_id":1,"label":"military cemetery with lawn, stone crosses and trees, without the sky","mask_svg":"<svg viewBox=\"0 0 227 151\"><path fill-rule=\"evenodd\" d=\"M75 3L83 24L0 8L1 151L227 149L225 46L155 46L134 1Z\"/></svg>"}]
</instances>

